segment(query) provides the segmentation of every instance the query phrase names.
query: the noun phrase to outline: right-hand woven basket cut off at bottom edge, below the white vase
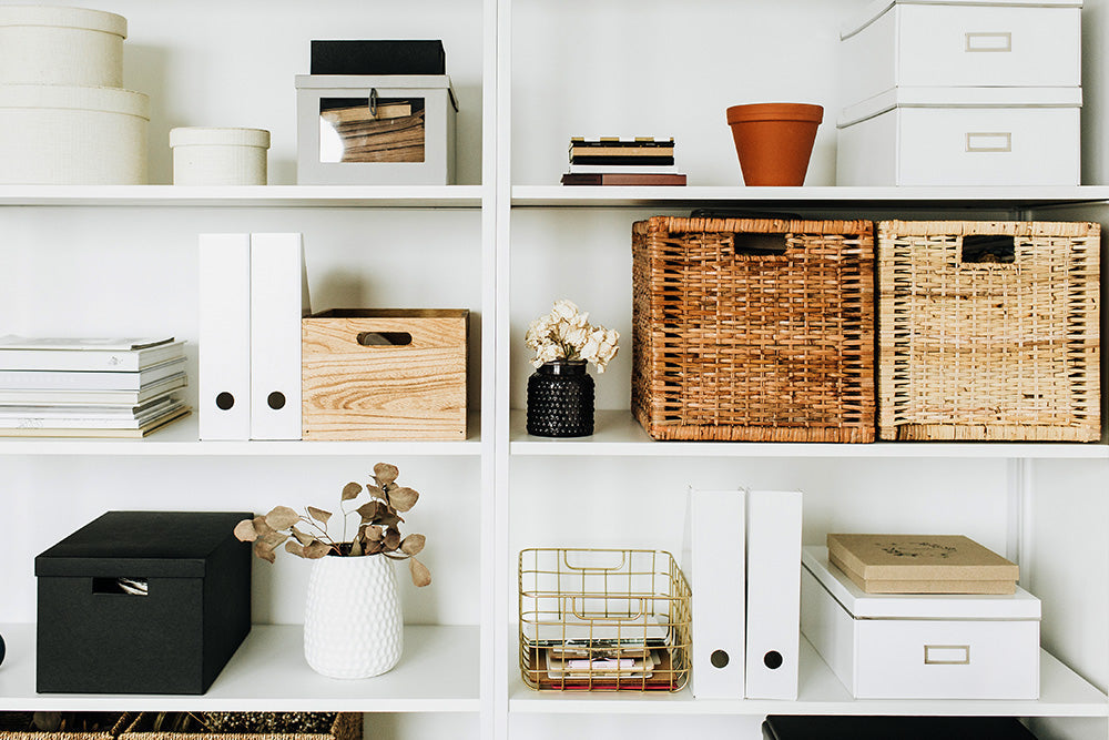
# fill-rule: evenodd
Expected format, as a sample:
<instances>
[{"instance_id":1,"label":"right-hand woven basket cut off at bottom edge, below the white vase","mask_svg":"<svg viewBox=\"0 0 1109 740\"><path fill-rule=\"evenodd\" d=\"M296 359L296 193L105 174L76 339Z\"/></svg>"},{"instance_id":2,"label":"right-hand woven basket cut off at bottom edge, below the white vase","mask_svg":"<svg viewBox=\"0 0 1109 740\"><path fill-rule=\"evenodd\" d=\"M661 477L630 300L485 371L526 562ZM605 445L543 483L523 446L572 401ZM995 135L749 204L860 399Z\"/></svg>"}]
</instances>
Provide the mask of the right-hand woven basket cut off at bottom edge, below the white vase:
<instances>
[{"instance_id":1,"label":"right-hand woven basket cut off at bottom edge, below the white vase","mask_svg":"<svg viewBox=\"0 0 1109 740\"><path fill-rule=\"evenodd\" d=\"M143 712L120 740L362 740L362 724L358 712Z\"/></svg>"}]
</instances>

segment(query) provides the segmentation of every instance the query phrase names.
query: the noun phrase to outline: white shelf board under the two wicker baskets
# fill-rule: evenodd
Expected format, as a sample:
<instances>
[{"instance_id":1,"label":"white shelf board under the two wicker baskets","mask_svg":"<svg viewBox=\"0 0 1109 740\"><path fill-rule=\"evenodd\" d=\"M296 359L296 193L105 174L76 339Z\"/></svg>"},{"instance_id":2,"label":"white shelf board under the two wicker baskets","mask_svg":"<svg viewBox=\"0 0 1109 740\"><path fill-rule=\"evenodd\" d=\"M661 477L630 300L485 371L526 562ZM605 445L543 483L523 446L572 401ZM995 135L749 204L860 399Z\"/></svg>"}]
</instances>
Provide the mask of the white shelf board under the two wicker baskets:
<instances>
[{"instance_id":1,"label":"white shelf board under the two wicker baskets","mask_svg":"<svg viewBox=\"0 0 1109 740\"><path fill-rule=\"evenodd\" d=\"M681 442L651 439L627 410L598 410L589 437L547 438L527 433L527 413L513 409L510 426L513 455L604 455L674 457L969 457L1109 459L1099 443L1007 442L876 442L871 444L797 442Z\"/></svg>"}]
</instances>

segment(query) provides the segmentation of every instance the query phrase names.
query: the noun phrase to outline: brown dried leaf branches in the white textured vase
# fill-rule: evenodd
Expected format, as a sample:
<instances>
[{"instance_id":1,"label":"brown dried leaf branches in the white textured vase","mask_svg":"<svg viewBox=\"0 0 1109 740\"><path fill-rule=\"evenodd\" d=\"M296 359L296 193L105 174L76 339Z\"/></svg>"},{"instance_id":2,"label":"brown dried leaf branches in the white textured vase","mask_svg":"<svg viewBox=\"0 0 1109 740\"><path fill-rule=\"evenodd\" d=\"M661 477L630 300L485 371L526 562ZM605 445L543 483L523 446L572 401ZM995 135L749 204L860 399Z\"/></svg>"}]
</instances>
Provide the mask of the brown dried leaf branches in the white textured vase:
<instances>
[{"instance_id":1,"label":"brown dried leaf branches in the white textured vase","mask_svg":"<svg viewBox=\"0 0 1109 740\"><path fill-rule=\"evenodd\" d=\"M268 562L276 560L276 549L285 546L285 551L302 558L315 560L328 555L358 557L383 555L394 560L408 560L408 569L413 584L427 586L431 582L431 572L416 555L424 549L424 535L400 537L397 527L404 519L399 511L407 511L416 505L419 494L411 488L397 484L399 470L388 463L374 466L374 483L366 485L365 491L369 500L357 508L346 509L343 505L353 501L363 493L358 483L348 483L339 496L339 511L343 514L343 539L336 541L327 533L330 511L305 507L305 514L298 514L287 506L277 506L265 516L243 519L235 526L235 537L244 543L254 543L254 554ZM362 520L354 536L347 540L347 518L357 514ZM312 534L297 529L297 525L312 530Z\"/></svg>"}]
</instances>

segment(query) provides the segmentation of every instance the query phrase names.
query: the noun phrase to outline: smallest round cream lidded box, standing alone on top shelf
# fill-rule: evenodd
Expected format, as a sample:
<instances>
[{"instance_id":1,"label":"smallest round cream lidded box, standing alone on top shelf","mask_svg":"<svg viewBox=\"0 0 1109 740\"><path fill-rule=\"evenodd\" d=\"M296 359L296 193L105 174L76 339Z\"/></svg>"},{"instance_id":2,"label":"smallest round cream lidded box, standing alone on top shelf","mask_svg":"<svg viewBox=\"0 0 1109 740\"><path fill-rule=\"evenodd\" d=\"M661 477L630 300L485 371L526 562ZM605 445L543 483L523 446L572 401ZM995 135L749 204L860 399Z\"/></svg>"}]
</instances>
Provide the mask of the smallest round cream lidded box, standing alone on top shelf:
<instances>
[{"instance_id":1,"label":"smallest round cream lidded box, standing alone on top shelf","mask_svg":"<svg viewBox=\"0 0 1109 740\"><path fill-rule=\"evenodd\" d=\"M174 185L265 185L269 132L186 126L170 130Z\"/></svg>"}]
</instances>

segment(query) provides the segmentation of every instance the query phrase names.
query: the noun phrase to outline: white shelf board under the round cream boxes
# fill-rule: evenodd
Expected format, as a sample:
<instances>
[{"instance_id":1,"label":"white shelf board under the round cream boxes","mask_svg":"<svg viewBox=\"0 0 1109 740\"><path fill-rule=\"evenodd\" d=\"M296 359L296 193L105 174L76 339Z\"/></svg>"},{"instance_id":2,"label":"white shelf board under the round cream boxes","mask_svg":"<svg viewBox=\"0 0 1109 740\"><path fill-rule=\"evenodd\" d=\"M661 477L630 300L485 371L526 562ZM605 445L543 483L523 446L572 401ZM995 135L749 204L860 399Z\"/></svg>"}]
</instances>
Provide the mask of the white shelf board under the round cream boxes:
<instances>
[{"instance_id":1,"label":"white shelf board under the round cream boxes","mask_svg":"<svg viewBox=\"0 0 1109 740\"><path fill-rule=\"evenodd\" d=\"M478 209L480 185L0 185L0 205Z\"/></svg>"}]
</instances>

